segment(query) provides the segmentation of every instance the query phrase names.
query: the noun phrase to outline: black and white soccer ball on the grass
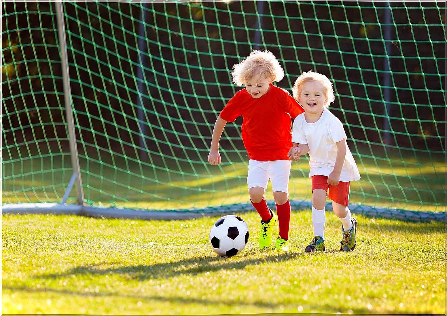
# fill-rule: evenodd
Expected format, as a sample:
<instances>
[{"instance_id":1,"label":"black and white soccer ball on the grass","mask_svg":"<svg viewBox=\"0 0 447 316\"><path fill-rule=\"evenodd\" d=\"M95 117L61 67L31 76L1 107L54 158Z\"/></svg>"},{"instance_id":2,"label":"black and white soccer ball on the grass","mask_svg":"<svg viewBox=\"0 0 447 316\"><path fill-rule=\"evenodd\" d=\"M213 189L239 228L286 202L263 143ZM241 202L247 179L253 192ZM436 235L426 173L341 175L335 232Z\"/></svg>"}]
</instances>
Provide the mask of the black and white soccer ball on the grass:
<instances>
[{"instance_id":1,"label":"black and white soccer ball on the grass","mask_svg":"<svg viewBox=\"0 0 447 316\"><path fill-rule=\"evenodd\" d=\"M249 241L247 223L239 216L225 215L219 218L210 231L210 244L219 256L234 256Z\"/></svg>"}]
</instances>

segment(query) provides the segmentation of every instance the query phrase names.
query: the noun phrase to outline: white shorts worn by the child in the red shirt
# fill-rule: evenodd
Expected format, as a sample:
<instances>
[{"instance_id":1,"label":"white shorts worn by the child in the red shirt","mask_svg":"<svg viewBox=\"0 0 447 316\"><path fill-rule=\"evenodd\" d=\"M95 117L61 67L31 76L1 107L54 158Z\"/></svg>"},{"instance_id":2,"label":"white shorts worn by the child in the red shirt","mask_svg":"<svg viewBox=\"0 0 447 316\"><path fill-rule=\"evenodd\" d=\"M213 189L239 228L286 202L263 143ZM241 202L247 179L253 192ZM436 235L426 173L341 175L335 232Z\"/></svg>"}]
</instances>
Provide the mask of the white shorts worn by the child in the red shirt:
<instances>
[{"instance_id":1,"label":"white shorts worn by the child in the red shirt","mask_svg":"<svg viewBox=\"0 0 447 316\"><path fill-rule=\"evenodd\" d=\"M291 160L259 161L250 159L247 177L249 189L260 186L267 190L267 183L270 178L273 192L281 191L288 194L291 165Z\"/></svg>"}]
</instances>

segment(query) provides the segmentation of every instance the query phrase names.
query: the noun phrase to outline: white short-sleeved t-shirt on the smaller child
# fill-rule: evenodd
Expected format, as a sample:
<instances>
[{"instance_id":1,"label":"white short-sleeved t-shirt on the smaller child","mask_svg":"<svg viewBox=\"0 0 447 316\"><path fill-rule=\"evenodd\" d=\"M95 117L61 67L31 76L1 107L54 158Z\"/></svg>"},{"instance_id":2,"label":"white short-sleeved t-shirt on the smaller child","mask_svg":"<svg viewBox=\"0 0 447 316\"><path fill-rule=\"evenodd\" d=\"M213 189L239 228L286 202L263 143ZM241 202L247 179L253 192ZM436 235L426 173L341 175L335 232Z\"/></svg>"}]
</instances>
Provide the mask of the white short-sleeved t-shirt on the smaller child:
<instances>
[{"instance_id":1,"label":"white short-sleeved t-shirt on the smaller child","mask_svg":"<svg viewBox=\"0 0 447 316\"><path fill-rule=\"evenodd\" d=\"M335 143L346 139L342 122L325 109L318 121L306 122L304 113L299 114L293 122L292 142L308 144L309 146L309 177L316 174L328 177L335 166L337 145ZM357 165L346 144L346 157L343 163L340 181L357 181L360 179Z\"/></svg>"}]
</instances>

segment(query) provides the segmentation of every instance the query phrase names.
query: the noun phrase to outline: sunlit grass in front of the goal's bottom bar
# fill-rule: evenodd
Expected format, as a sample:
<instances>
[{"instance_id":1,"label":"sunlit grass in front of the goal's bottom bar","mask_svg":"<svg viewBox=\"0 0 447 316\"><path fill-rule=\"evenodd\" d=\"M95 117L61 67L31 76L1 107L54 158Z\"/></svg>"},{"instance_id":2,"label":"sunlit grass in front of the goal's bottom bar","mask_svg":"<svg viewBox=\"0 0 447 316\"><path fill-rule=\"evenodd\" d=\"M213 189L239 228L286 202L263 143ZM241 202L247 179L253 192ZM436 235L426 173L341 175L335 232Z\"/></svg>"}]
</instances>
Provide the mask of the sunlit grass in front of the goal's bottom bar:
<instances>
[{"instance_id":1,"label":"sunlit grass in front of the goal's bottom bar","mask_svg":"<svg viewBox=\"0 0 447 316\"><path fill-rule=\"evenodd\" d=\"M444 223L358 219L354 252L303 253L310 211L292 212L287 254L257 247L259 217L240 214L249 244L217 257L219 216L181 221L2 215L3 313L233 314L445 313Z\"/></svg>"}]
</instances>

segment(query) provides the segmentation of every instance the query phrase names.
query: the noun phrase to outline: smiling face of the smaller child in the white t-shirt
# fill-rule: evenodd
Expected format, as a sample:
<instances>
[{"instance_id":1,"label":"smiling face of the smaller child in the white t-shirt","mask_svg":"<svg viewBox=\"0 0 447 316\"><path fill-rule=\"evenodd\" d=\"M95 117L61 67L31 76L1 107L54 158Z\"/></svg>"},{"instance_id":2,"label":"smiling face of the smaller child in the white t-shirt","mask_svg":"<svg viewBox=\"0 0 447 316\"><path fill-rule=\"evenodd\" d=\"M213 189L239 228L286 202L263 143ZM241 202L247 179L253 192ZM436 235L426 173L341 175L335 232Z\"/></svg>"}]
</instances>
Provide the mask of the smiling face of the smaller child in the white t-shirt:
<instances>
[{"instance_id":1,"label":"smiling face of the smaller child in the white t-shirt","mask_svg":"<svg viewBox=\"0 0 447 316\"><path fill-rule=\"evenodd\" d=\"M298 102L304 107L306 113L321 114L327 101L326 89L320 82L310 80L301 85Z\"/></svg>"}]
</instances>

